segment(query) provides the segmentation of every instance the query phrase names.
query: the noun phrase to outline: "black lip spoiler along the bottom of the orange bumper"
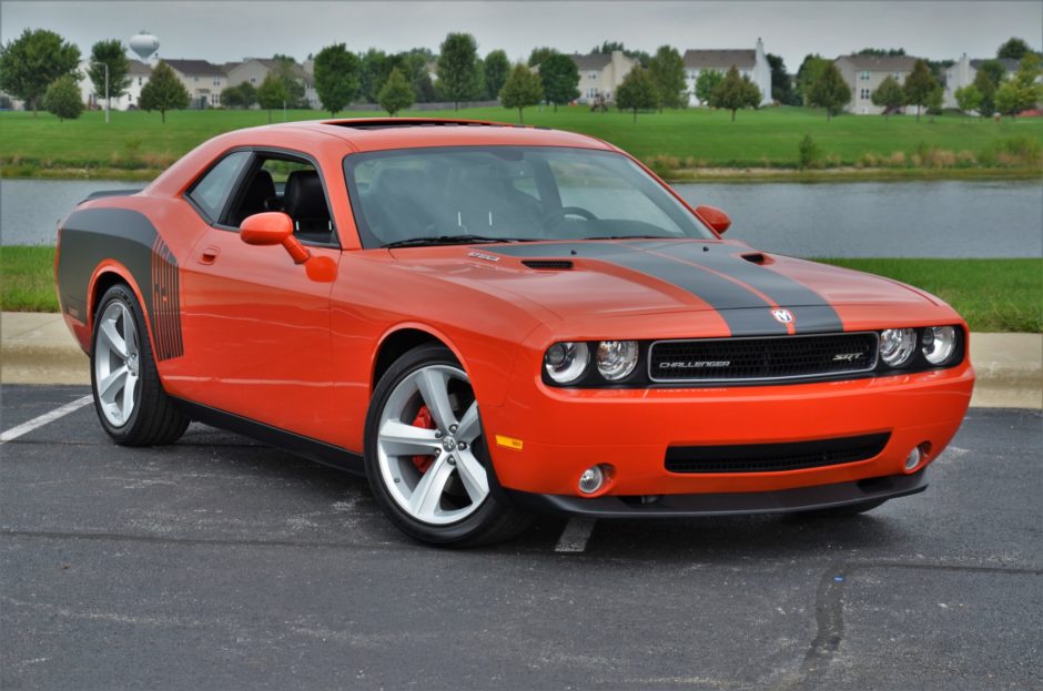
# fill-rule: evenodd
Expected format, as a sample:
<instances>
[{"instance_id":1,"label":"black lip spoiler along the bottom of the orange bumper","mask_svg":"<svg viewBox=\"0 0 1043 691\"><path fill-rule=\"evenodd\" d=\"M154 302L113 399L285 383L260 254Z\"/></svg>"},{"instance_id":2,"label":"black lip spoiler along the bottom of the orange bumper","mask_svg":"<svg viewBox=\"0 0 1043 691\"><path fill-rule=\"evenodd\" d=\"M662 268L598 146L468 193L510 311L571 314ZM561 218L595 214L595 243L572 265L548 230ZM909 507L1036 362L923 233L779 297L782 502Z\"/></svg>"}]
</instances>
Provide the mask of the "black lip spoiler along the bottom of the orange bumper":
<instances>
[{"instance_id":1,"label":"black lip spoiler along the bottom of the orange bumper","mask_svg":"<svg viewBox=\"0 0 1043 691\"><path fill-rule=\"evenodd\" d=\"M893 475L778 491L662 495L659 497L606 495L594 499L512 492L510 497L517 506L533 512L569 514L588 518L683 518L792 514L837 509L867 501L883 501L915 495L928 488L925 474L925 470L920 470L912 475Z\"/></svg>"}]
</instances>

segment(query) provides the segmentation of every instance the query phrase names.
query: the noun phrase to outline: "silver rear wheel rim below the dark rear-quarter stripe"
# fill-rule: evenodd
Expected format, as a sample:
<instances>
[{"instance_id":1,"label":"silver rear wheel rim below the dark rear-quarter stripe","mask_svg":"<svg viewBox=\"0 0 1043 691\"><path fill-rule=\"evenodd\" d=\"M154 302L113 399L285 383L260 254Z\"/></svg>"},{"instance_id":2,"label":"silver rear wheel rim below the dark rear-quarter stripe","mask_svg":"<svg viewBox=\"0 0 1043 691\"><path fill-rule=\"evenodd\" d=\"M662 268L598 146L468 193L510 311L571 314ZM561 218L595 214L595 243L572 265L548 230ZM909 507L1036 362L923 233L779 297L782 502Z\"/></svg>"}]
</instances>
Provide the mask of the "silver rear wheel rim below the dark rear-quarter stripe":
<instances>
[{"instance_id":1,"label":"silver rear wheel rim below the dark rear-quarter stripe","mask_svg":"<svg viewBox=\"0 0 1043 691\"><path fill-rule=\"evenodd\" d=\"M122 302L113 301L102 313L94 349L101 411L112 426L121 427L134 413L141 362L134 316Z\"/></svg>"}]
</instances>

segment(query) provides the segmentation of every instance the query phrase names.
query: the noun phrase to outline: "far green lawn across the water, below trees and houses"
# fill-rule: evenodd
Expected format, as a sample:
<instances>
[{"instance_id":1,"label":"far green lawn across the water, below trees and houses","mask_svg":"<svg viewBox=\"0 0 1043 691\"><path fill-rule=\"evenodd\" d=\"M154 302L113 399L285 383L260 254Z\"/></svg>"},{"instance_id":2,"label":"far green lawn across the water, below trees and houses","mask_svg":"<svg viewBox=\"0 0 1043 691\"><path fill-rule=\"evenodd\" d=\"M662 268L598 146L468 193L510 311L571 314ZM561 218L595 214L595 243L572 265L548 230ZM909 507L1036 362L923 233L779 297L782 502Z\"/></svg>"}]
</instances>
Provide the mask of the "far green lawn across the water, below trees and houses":
<instances>
[{"instance_id":1,"label":"far green lawn across the water, below trees and houses","mask_svg":"<svg viewBox=\"0 0 1043 691\"><path fill-rule=\"evenodd\" d=\"M460 116L514 122L515 111L503 108L470 109L458 113L411 112L434 116ZM382 112L341 113L340 116L382 116ZM288 120L326 118L318 111L287 111ZM282 112L274 119L282 121ZM742 111L736 122L727 111L688 109L642 113L637 123L627 113L591 113L585 106L560 108L557 112L527 109L527 124L590 134L621 146L645 161L656 156L658 170L677 167L789 167L797 165L798 143L810 134L822 160L831 165L867 165L891 160L901 152L904 169L921 159L917 167L961 170L1019 167L1040 174L1040 143L1043 118L1002 122L945 114L901 115L884 120L873 115L842 115L827 123L821 111L803 108L772 108ZM48 113L0 113L0 166L8 175L74 175L69 169L115 169L133 175L153 175L206 139L240 128L266 124L264 111L176 111L159 113L112 112L107 125L104 113L88 112L79 120L59 122ZM1012 144L1013 142L1013 144ZM1031 150L1027 157L1011 155ZM944 152L931 157L932 150ZM961 152L964 152L962 160ZM1034 153L1033 153L1034 152ZM867 157L867 155L869 157ZM888 165L895 165L888 163ZM65 169L59 173L60 169ZM95 175L98 172L94 171ZM83 173L81 172L80 175ZM110 173L111 174L111 173Z\"/></svg>"}]
</instances>

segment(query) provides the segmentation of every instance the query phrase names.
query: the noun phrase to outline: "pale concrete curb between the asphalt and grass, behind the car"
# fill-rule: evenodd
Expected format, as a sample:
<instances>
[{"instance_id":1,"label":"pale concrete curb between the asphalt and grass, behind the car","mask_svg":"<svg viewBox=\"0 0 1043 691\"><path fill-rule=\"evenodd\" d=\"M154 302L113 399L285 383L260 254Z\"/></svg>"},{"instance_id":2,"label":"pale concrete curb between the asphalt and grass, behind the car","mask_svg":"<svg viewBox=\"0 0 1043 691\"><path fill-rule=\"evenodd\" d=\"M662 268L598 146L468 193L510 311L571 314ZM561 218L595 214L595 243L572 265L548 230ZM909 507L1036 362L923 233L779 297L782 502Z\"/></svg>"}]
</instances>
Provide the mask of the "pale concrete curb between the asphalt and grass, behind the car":
<instances>
[{"instance_id":1,"label":"pale concrete curb between the asphalt and grass, behind the car","mask_svg":"<svg viewBox=\"0 0 1043 691\"><path fill-rule=\"evenodd\" d=\"M4 384L90 384L87 356L60 314L4 312L0 336ZM971 362L972 406L1043 408L1043 334L971 334Z\"/></svg>"}]
</instances>

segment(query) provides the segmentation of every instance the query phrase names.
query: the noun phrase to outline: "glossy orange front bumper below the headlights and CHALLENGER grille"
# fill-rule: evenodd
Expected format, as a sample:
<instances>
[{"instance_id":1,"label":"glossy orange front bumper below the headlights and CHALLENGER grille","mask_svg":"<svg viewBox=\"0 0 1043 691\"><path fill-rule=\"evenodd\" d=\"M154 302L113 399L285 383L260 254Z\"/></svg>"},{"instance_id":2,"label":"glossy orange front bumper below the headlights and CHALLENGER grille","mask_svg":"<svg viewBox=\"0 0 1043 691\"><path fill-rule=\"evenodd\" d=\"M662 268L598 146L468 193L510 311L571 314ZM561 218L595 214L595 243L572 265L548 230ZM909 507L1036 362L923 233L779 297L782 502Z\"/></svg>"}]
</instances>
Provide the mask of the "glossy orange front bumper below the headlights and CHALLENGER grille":
<instances>
[{"instance_id":1,"label":"glossy orange front bumper below the headlights and CHALLENGER grille","mask_svg":"<svg viewBox=\"0 0 1043 691\"><path fill-rule=\"evenodd\" d=\"M657 495L671 497L660 507L698 514L698 506L674 497L780 492L918 474L959 429L973 384L969 360L899 376L721 388L558 389L538 377L516 376L504 404L484 407L482 416L505 489L554 497L547 501L574 514L612 506L598 502L601 497ZM881 453L826 467L687 474L671 472L665 463L667 449L678 446L771 445L881 433L890 435ZM497 445L497 435L518 440L520 448ZM914 447L923 459L907 470L905 458ZM610 467L609 479L595 495L583 496L579 476L596 464ZM864 499L853 496L851 501ZM783 499L763 497L752 509L736 510L763 510L776 500ZM703 497L699 506L717 505Z\"/></svg>"}]
</instances>

